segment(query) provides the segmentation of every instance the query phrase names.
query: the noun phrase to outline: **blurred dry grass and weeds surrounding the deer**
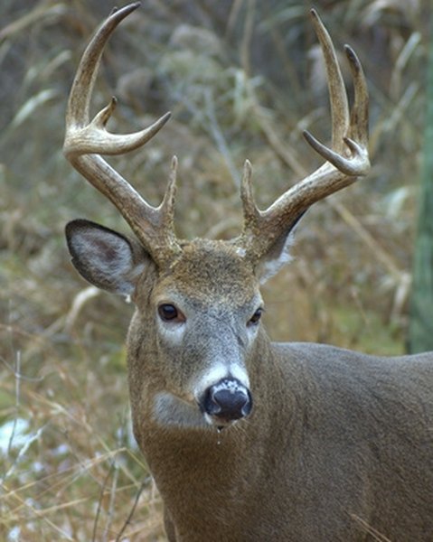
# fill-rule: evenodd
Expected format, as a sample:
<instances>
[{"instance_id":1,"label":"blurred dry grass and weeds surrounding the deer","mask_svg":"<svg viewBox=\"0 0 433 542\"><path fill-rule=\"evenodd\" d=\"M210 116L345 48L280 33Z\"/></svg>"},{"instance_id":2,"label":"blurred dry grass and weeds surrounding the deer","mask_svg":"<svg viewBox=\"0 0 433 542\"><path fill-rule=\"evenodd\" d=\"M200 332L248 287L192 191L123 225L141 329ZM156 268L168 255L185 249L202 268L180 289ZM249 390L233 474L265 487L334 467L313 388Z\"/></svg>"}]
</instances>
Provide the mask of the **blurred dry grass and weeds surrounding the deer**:
<instances>
[{"instance_id":1,"label":"blurred dry grass and weeds surrounding the deer","mask_svg":"<svg viewBox=\"0 0 433 542\"><path fill-rule=\"evenodd\" d=\"M124 5L124 2L118 2ZM294 260L264 288L278 341L405 351L426 113L428 0L315 0L371 93L372 173L320 202ZM143 150L110 160L157 204L179 158L179 236L240 229L246 158L265 207L319 164L324 66L300 0L146 0L108 44L93 112L108 128L173 117ZM63 229L127 226L66 162L64 111L107 0L0 3L0 538L164 540L161 503L129 429L125 335L133 307L86 285ZM344 73L348 67L342 54ZM349 92L350 77L346 78Z\"/></svg>"}]
</instances>

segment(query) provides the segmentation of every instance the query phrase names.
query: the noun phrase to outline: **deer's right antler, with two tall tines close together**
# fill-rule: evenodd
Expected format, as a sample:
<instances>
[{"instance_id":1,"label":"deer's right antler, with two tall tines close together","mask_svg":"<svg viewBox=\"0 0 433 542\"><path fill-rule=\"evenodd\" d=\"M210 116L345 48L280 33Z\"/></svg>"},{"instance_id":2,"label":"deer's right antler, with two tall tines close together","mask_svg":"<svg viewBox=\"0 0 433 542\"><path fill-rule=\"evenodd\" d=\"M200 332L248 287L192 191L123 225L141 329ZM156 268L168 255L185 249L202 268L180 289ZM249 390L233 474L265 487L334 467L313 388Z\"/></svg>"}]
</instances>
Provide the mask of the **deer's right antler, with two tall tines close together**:
<instances>
[{"instance_id":1,"label":"deer's right antler, with two tall tines close together","mask_svg":"<svg viewBox=\"0 0 433 542\"><path fill-rule=\"evenodd\" d=\"M252 194L251 164L245 163L241 185L244 213L243 232L236 244L256 261L268 252L315 201L352 184L370 170L368 157L368 90L362 66L354 51L344 47L354 83L352 114L344 80L338 65L333 42L315 10L311 10L315 33L325 56L325 67L332 115L332 148L322 145L309 132L304 136L309 145L323 156L326 163L274 201L267 210L259 210Z\"/></svg>"}]
</instances>

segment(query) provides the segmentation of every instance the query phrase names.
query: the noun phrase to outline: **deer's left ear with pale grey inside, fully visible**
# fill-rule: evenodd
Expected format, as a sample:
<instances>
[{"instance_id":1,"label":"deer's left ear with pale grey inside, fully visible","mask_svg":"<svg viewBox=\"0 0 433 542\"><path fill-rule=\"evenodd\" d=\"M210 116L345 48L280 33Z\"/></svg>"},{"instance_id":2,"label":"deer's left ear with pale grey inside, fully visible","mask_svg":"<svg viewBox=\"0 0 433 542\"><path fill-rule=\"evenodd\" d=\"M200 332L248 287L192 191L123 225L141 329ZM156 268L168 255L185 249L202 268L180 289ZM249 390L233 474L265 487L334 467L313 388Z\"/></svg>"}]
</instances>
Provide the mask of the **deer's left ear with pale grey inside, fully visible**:
<instances>
[{"instance_id":1,"label":"deer's left ear with pale grey inside, fully visible","mask_svg":"<svg viewBox=\"0 0 433 542\"><path fill-rule=\"evenodd\" d=\"M113 294L134 292L136 279L149 262L138 243L89 220L72 220L65 233L80 276Z\"/></svg>"}]
</instances>

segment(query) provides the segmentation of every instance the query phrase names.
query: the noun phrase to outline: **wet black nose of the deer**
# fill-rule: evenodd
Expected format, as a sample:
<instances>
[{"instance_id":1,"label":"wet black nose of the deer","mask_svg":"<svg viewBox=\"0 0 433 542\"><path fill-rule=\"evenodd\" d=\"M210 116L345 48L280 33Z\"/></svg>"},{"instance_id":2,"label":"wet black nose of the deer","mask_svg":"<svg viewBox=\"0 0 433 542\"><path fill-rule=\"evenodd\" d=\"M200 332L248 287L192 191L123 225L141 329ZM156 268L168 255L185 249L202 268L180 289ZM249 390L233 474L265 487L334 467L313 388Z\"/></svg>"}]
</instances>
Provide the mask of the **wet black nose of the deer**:
<instances>
[{"instance_id":1,"label":"wet black nose of the deer","mask_svg":"<svg viewBox=\"0 0 433 542\"><path fill-rule=\"evenodd\" d=\"M223 378L208 388L202 399L202 410L206 414L227 422L248 416L251 408L249 389L235 378Z\"/></svg>"}]
</instances>

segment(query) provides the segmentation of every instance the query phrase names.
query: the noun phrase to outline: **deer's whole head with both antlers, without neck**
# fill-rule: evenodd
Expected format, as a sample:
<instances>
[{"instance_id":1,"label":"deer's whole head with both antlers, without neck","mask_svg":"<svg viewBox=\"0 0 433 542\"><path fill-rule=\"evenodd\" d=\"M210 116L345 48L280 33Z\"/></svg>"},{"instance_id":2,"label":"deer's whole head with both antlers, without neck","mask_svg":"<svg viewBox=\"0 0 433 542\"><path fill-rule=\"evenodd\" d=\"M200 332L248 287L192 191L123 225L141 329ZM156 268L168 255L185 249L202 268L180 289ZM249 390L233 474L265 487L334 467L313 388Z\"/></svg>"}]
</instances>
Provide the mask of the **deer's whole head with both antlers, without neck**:
<instances>
[{"instance_id":1,"label":"deer's whole head with both antlers, without neck","mask_svg":"<svg viewBox=\"0 0 433 542\"><path fill-rule=\"evenodd\" d=\"M68 104L64 153L73 167L105 194L127 220L135 238L126 238L87 220L66 228L72 262L90 283L129 295L136 313L128 336L131 401L140 441L145 417L163 425L231 425L248 416L259 394L255 360L266 341L259 325L263 301L259 284L288 260L290 234L315 201L368 173L368 94L353 50L345 51L353 75L349 111L334 46L314 10L311 18L325 56L332 146L305 132L325 159L315 173L259 210L252 191L252 167L243 169L240 198L243 228L230 240L177 238L174 157L159 207L153 207L102 158L145 145L170 113L131 135L110 134L106 125L116 106L89 120L99 61L109 36L139 3L113 12L80 61Z\"/></svg>"}]
</instances>

